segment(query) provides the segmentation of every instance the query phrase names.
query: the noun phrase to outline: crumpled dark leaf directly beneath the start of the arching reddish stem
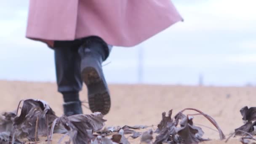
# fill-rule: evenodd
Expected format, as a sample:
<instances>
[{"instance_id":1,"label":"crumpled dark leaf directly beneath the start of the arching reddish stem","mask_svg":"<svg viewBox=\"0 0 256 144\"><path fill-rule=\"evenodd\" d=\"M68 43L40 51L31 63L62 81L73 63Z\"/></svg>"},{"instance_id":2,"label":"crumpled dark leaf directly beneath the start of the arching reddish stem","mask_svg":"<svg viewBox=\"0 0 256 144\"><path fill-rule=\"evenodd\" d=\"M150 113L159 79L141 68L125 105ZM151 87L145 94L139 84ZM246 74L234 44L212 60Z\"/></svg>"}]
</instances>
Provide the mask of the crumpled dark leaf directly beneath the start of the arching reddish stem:
<instances>
[{"instance_id":1,"label":"crumpled dark leaf directly beneath the start of the arching reddish stem","mask_svg":"<svg viewBox=\"0 0 256 144\"><path fill-rule=\"evenodd\" d=\"M192 117L186 117L181 112L176 115L175 121L180 122L180 128L176 128L176 132L183 139L184 144L197 144L201 141L205 141L202 136L204 134L202 128L193 125Z\"/></svg>"}]
</instances>

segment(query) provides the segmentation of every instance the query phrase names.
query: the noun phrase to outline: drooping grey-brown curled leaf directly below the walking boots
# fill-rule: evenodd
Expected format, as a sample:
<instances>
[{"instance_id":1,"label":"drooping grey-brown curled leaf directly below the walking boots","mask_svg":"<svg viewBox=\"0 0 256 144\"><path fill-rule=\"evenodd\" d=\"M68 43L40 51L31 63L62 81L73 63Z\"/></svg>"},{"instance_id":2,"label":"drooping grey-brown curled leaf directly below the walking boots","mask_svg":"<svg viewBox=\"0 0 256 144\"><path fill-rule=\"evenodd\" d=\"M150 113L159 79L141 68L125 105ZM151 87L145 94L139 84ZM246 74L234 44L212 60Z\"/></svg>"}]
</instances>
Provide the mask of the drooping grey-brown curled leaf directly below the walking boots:
<instances>
[{"instance_id":1,"label":"drooping grey-brown curled leaf directly below the walking boots","mask_svg":"<svg viewBox=\"0 0 256 144\"><path fill-rule=\"evenodd\" d=\"M99 131L104 126L103 115L95 112L91 115L63 115L58 119L58 125L68 131L73 144L88 144L93 139L93 131Z\"/></svg>"}]
</instances>

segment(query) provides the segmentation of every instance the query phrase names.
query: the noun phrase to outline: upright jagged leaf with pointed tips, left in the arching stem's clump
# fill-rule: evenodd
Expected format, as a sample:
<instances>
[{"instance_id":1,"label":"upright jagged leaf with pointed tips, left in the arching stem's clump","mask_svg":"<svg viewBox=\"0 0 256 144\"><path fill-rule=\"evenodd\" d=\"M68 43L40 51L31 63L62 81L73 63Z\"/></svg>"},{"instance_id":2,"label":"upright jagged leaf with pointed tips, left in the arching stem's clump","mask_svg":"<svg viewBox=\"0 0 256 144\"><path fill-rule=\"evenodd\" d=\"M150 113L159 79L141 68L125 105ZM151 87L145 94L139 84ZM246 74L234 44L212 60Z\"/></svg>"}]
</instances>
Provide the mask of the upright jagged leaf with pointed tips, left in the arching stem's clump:
<instances>
[{"instance_id":1,"label":"upright jagged leaf with pointed tips, left in the arching stem's clump","mask_svg":"<svg viewBox=\"0 0 256 144\"><path fill-rule=\"evenodd\" d=\"M166 117L165 112L162 113L162 120L161 122L157 125L159 135L157 135L155 144L162 144L163 142L167 142L173 135L176 134L175 131L175 125L173 123L173 120L171 118L172 110L168 112L168 116Z\"/></svg>"}]
</instances>

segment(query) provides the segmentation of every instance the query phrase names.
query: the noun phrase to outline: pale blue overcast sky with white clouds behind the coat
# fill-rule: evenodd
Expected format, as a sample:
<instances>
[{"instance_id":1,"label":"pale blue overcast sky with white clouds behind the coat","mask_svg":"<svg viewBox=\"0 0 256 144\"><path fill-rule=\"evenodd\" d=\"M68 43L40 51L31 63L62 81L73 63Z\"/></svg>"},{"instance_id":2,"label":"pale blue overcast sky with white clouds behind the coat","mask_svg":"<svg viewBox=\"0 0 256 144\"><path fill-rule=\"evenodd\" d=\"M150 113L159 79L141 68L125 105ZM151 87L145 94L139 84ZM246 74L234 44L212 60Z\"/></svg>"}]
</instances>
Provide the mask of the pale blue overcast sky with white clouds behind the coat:
<instances>
[{"instance_id":1,"label":"pale blue overcast sky with white clouds behind the coat","mask_svg":"<svg viewBox=\"0 0 256 144\"><path fill-rule=\"evenodd\" d=\"M255 0L173 0L184 18L133 48L115 47L104 67L109 83L256 84ZM55 81L53 51L25 38L28 0L1 1L0 79Z\"/></svg>"}]
</instances>

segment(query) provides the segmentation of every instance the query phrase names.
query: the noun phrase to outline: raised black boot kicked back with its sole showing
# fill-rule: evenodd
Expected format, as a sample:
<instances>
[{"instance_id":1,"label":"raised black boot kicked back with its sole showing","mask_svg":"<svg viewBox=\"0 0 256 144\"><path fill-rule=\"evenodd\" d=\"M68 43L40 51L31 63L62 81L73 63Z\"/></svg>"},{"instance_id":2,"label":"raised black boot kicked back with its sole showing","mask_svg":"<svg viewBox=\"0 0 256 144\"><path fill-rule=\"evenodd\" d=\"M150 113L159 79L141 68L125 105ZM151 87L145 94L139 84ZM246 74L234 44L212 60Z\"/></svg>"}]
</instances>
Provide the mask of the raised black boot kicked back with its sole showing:
<instances>
[{"instance_id":1,"label":"raised black boot kicked back with its sole showing","mask_svg":"<svg viewBox=\"0 0 256 144\"><path fill-rule=\"evenodd\" d=\"M109 112L111 101L101 64L109 56L109 46L99 37L87 37L78 52L81 57L81 77L88 89L92 112Z\"/></svg>"}]
</instances>

